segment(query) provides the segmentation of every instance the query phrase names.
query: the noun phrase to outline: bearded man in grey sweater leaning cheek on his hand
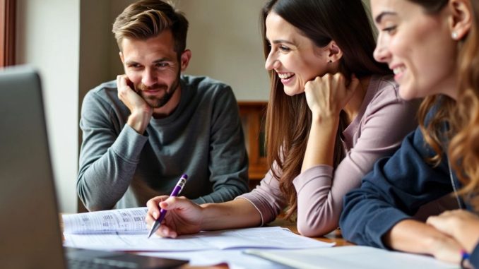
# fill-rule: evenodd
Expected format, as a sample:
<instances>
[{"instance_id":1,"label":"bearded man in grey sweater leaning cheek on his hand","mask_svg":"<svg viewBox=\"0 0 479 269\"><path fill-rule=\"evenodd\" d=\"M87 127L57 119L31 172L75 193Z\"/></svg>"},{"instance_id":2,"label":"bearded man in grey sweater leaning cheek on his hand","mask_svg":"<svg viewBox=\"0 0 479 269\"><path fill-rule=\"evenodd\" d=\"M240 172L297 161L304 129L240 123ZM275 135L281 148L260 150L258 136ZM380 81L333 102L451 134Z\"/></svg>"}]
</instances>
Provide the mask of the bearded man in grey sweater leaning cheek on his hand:
<instances>
[{"instance_id":1,"label":"bearded man in grey sweater leaning cheek on his hand","mask_svg":"<svg viewBox=\"0 0 479 269\"><path fill-rule=\"evenodd\" d=\"M160 0L128 6L114 22L124 75L83 100L78 195L88 210L145 206L181 193L229 201L247 187L247 153L229 86L180 75L191 59L188 21Z\"/></svg>"}]
</instances>

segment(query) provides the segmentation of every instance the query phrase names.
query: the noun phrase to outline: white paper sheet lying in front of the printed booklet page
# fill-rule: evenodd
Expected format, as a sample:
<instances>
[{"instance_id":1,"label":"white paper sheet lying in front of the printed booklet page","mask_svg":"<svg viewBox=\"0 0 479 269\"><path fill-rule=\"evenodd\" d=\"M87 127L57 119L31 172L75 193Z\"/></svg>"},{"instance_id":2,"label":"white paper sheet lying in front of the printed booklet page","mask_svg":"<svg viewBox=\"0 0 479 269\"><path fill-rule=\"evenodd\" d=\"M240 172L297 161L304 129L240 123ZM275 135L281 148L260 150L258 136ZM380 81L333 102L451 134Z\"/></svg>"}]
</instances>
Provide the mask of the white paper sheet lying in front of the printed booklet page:
<instances>
[{"instance_id":1,"label":"white paper sheet lying in front of the printed booklet page","mask_svg":"<svg viewBox=\"0 0 479 269\"><path fill-rule=\"evenodd\" d=\"M176 239L143 234L68 234L65 246L110 251L198 251L211 249L304 249L333 246L308 237L302 237L281 227L230 229L182 235Z\"/></svg>"}]
</instances>

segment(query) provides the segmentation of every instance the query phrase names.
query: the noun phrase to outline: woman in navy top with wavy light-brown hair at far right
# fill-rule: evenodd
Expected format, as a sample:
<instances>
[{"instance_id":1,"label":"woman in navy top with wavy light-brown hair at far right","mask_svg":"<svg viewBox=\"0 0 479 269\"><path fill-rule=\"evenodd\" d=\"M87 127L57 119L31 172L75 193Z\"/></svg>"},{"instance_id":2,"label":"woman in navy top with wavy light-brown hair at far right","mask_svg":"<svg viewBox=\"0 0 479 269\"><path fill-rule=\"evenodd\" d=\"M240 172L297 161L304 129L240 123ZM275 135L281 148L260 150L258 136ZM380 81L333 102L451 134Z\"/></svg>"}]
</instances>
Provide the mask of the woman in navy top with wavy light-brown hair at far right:
<instances>
[{"instance_id":1,"label":"woman in navy top with wavy light-brown hair at far right","mask_svg":"<svg viewBox=\"0 0 479 269\"><path fill-rule=\"evenodd\" d=\"M425 97L420 126L348 193L343 236L479 268L479 1L372 0L374 56L401 97ZM426 222L420 205L453 194L462 210Z\"/></svg>"}]
</instances>

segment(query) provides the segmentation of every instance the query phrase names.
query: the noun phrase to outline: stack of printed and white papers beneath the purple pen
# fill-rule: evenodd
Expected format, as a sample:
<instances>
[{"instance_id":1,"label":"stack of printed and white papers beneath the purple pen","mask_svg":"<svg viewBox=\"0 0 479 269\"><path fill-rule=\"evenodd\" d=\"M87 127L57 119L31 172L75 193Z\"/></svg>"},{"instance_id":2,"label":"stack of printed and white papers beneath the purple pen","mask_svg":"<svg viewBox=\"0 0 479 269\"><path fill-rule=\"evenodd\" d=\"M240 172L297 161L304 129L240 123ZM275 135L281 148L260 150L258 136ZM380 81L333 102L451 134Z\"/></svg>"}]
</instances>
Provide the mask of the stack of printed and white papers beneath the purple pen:
<instances>
[{"instance_id":1,"label":"stack of printed and white papers beneath the purple pen","mask_svg":"<svg viewBox=\"0 0 479 269\"><path fill-rule=\"evenodd\" d=\"M147 238L146 208L64 215L64 246L110 251L199 251L220 249L306 249L333 246L281 227L229 229Z\"/></svg>"}]
</instances>

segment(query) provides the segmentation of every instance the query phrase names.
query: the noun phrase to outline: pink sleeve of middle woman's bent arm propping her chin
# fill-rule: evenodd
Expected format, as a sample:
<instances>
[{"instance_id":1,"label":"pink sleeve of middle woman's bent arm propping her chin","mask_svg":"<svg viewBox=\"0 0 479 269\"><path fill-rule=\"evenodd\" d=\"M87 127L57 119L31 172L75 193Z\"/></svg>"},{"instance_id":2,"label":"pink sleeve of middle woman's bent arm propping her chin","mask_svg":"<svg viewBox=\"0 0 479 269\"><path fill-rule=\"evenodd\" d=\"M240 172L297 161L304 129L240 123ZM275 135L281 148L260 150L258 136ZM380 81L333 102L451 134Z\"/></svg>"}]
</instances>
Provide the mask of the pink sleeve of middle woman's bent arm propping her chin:
<instances>
[{"instance_id":1,"label":"pink sleeve of middle woman's bent arm propping her chin","mask_svg":"<svg viewBox=\"0 0 479 269\"><path fill-rule=\"evenodd\" d=\"M343 197L360 186L360 180L380 157L392 155L416 126L417 102L405 102L394 88L368 104L360 136L336 167L319 165L298 175L297 229L308 237L327 234L338 227Z\"/></svg>"}]
</instances>

